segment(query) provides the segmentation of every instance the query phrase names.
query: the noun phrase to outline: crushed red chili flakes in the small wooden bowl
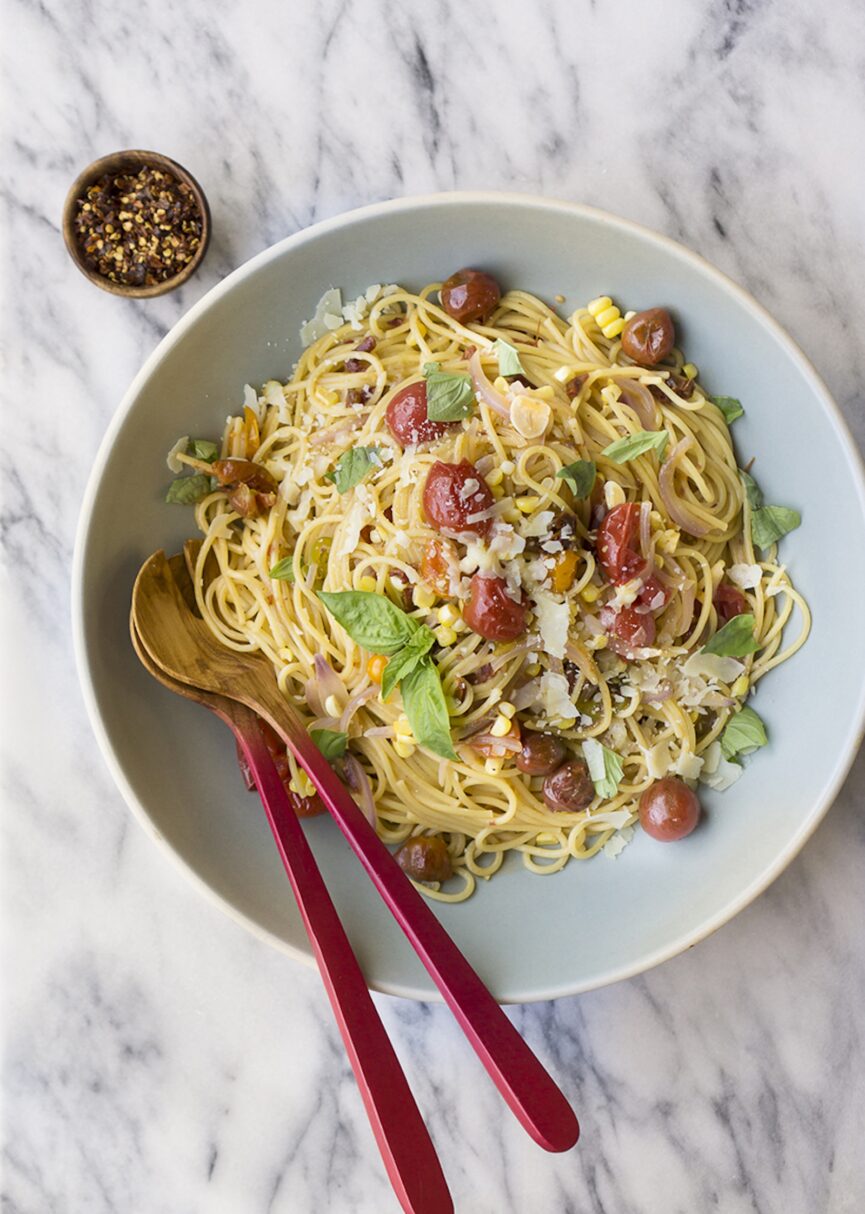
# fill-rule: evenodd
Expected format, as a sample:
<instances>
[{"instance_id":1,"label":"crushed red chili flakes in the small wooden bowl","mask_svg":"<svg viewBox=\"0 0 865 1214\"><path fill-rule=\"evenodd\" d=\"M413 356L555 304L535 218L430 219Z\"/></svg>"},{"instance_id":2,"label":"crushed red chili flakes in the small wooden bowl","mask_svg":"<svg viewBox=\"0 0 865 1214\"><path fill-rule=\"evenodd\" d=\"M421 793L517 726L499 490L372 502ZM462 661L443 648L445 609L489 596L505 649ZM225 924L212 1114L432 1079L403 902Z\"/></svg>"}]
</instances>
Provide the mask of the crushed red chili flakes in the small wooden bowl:
<instances>
[{"instance_id":1,"label":"crushed red chili flakes in the small wooden bowl","mask_svg":"<svg viewBox=\"0 0 865 1214\"><path fill-rule=\"evenodd\" d=\"M175 278L201 243L192 188L164 169L106 174L78 199L75 232L84 263L125 287Z\"/></svg>"}]
</instances>

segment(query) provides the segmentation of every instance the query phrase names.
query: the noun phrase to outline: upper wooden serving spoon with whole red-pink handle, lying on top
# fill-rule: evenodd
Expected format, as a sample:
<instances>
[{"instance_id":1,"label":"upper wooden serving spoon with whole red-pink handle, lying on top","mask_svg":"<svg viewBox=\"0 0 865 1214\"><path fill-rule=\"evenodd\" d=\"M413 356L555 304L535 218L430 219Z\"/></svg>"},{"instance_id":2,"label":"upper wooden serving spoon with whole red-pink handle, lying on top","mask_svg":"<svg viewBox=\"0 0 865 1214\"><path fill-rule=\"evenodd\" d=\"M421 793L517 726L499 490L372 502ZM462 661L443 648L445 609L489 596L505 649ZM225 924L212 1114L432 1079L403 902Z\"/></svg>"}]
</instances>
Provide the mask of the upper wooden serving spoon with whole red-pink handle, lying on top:
<instances>
[{"instance_id":1,"label":"upper wooden serving spoon with whole red-pink handle, lying on top","mask_svg":"<svg viewBox=\"0 0 865 1214\"><path fill-rule=\"evenodd\" d=\"M285 739L514 1116L545 1150L574 1146L580 1128L570 1105L334 775L279 691L268 659L220 645L183 602L161 551L136 578L132 619L150 658L172 680L245 704Z\"/></svg>"}]
</instances>

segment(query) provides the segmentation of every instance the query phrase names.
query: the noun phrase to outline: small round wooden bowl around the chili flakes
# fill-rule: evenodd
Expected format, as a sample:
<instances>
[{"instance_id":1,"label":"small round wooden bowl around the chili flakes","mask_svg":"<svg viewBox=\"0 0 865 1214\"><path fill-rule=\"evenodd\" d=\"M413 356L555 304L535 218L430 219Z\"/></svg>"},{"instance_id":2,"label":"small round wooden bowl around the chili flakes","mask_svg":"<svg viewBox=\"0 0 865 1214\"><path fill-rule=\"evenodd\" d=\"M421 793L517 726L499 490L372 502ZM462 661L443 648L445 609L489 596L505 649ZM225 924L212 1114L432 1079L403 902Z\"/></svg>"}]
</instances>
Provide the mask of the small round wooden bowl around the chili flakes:
<instances>
[{"instance_id":1,"label":"small round wooden bowl around the chili flakes","mask_svg":"<svg viewBox=\"0 0 865 1214\"><path fill-rule=\"evenodd\" d=\"M138 172L140 169L144 168L164 169L176 177L177 181L182 181L189 186L195 204L201 212L201 242L192 261L187 262L173 277L166 278L161 283L154 283L152 287L127 287L124 283L112 282L110 278L106 278L104 274L99 274L85 265L75 232L75 216L78 214L78 200L84 197L86 189L99 177L103 177L106 174ZM126 152L112 152L110 155L99 157L98 160L93 160L84 172L78 175L63 204L63 239L72 260L85 278L101 287L103 291L110 291L112 295L125 295L127 299L141 300L150 299L154 295L165 295L166 291L172 291L176 287L184 283L187 278L195 273L204 260L207 245L210 244L210 208L207 206L207 199L204 197L204 191L183 165L177 164L176 160L171 160L166 155L160 155L159 152L127 149Z\"/></svg>"}]
</instances>

